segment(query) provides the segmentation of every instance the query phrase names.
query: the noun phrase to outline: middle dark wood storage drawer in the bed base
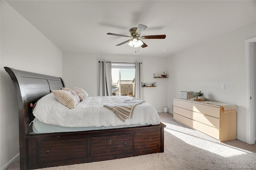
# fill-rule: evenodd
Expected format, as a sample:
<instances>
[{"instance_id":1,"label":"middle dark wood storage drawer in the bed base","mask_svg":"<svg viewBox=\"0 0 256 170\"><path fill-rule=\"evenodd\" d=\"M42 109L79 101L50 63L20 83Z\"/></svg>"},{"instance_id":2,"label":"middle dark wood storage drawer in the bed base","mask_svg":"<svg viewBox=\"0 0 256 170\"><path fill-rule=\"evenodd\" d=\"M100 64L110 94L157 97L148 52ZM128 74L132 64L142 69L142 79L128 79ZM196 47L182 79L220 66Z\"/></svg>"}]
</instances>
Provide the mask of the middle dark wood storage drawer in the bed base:
<instances>
[{"instance_id":1,"label":"middle dark wood storage drawer in the bed base","mask_svg":"<svg viewBox=\"0 0 256 170\"><path fill-rule=\"evenodd\" d=\"M90 156L113 156L133 152L133 134L90 137Z\"/></svg>"}]
</instances>

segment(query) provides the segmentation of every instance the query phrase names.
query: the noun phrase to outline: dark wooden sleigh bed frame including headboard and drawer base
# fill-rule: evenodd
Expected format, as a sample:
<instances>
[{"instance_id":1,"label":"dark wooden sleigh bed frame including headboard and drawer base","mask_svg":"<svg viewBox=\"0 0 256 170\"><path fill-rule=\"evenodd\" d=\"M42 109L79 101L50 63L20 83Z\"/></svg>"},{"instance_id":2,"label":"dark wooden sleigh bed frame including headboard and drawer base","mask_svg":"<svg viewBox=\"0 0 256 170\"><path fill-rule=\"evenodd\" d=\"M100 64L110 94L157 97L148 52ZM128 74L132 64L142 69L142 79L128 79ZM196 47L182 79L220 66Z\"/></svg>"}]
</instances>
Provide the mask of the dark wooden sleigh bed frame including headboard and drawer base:
<instances>
[{"instance_id":1,"label":"dark wooden sleigh bed frame including headboard and drawer base","mask_svg":"<svg viewBox=\"0 0 256 170\"><path fill-rule=\"evenodd\" d=\"M62 78L4 67L18 98L20 169L126 158L164 152L164 124L133 128L31 134L33 104L50 90L64 87Z\"/></svg>"}]
</instances>

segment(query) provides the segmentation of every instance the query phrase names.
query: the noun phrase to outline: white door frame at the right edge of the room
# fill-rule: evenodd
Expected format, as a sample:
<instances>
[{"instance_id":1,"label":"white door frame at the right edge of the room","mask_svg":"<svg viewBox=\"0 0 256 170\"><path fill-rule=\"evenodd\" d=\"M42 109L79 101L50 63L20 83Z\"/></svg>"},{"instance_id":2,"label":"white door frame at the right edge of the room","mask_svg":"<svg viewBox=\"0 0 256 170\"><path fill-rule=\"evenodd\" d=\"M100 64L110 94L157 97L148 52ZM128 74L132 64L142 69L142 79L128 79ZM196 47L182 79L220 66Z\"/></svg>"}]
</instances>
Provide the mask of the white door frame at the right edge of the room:
<instances>
[{"instance_id":1,"label":"white door frame at the right edge of the room","mask_svg":"<svg viewBox=\"0 0 256 170\"><path fill-rule=\"evenodd\" d=\"M246 46L246 143L255 143L254 113L254 42L256 37L245 41Z\"/></svg>"}]
</instances>

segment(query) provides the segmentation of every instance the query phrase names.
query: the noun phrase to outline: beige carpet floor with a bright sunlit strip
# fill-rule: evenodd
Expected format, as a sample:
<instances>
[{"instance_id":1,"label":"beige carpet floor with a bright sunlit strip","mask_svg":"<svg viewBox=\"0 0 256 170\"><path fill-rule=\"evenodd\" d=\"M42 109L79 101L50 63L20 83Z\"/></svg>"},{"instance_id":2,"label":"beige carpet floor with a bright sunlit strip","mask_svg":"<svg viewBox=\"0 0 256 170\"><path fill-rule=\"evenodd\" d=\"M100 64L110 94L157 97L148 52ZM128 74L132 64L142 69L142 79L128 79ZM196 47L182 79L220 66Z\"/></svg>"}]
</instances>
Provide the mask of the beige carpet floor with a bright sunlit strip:
<instances>
[{"instance_id":1,"label":"beige carpet floor with a bright sunlit strip","mask_svg":"<svg viewBox=\"0 0 256 170\"><path fill-rule=\"evenodd\" d=\"M159 113L166 124L164 153L42 168L40 170L228 170L256 169L256 145L239 140L219 142ZM18 160L7 170L18 170Z\"/></svg>"}]
</instances>

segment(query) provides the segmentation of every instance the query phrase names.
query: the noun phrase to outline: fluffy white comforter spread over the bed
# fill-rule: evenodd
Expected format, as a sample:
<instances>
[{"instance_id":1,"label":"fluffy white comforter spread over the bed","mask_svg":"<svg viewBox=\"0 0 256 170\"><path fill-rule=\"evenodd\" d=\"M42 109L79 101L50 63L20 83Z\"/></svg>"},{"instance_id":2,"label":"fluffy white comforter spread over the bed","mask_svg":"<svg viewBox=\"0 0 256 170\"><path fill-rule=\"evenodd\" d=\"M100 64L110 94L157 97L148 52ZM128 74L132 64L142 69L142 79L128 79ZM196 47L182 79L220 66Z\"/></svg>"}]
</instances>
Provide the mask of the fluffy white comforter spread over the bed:
<instances>
[{"instance_id":1,"label":"fluffy white comforter spread over the bed","mask_svg":"<svg viewBox=\"0 0 256 170\"><path fill-rule=\"evenodd\" d=\"M46 124L53 124L63 127L100 127L119 126L130 124L160 124L160 118L156 109L147 102L143 102L134 108L132 118L122 122L117 116L103 107L107 104L123 102L129 96L95 96L88 97L80 102L73 109L58 102L52 93L42 97L33 114L40 121Z\"/></svg>"}]
</instances>

